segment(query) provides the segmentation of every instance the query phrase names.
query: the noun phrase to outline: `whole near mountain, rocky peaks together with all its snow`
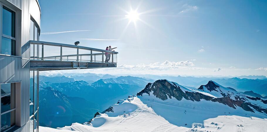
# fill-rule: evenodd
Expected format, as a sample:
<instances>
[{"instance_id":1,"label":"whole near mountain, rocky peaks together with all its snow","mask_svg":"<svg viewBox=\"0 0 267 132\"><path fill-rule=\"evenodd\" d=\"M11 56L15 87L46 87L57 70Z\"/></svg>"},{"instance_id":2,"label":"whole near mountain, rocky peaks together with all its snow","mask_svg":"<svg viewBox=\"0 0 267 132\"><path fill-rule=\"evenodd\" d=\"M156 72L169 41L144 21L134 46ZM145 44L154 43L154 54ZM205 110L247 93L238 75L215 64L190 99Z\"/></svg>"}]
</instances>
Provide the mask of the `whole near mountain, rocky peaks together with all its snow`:
<instances>
[{"instance_id":1,"label":"whole near mountain, rocky peaks together with all its snow","mask_svg":"<svg viewBox=\"0 0 267 132\"><path fill-rule=\"evenodd\" d=\"M192 90L157 80L92 120L55 131L267 131L266 104L213 81Z\"/></svg>"}]
</instances>

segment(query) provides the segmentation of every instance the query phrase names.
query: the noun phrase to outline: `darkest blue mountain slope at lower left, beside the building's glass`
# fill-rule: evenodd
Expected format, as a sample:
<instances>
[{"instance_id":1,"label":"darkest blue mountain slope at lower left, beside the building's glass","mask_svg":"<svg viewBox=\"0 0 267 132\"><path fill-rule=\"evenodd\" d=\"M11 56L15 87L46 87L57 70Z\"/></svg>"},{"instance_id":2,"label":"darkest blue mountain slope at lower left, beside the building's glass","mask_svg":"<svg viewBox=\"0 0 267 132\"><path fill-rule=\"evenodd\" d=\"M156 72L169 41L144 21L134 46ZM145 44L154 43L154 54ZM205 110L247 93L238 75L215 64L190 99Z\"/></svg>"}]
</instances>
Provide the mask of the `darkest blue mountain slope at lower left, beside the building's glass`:
<instances>
[{"instance_id":1,"label":"darkest blue mountain slope at lower left, beside the building's glass","mask_svg":"<svg viewBox=\"0 0 267 132\"><path fill-rule=\"evenodd\" d=\"M99 105L80 97L70 97L51 87L39 87L40 125L59 127L83 123L99 111Z\"/></svg>"}]
</instances>

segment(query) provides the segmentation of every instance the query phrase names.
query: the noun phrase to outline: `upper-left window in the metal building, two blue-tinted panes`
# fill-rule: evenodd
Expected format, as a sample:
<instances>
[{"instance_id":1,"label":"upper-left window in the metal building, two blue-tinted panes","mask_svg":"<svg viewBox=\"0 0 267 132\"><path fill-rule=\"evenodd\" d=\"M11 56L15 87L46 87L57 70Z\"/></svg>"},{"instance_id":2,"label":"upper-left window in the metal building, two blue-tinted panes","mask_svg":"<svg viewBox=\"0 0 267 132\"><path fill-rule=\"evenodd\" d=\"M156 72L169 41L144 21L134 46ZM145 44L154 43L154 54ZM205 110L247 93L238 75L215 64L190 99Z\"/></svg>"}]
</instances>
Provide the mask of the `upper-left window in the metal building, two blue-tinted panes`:
<instances>
[{"instance_id":1,"label":"upper-left window in the metal building, two blue-tinted panes","mask_svg":"<svg viewBox=\"0 0 267 132\"><path fill-rule=\"evenodd\" d=\"M16 55L15 12L3 6L1 54Z\"/></svg>"}]
</instances>

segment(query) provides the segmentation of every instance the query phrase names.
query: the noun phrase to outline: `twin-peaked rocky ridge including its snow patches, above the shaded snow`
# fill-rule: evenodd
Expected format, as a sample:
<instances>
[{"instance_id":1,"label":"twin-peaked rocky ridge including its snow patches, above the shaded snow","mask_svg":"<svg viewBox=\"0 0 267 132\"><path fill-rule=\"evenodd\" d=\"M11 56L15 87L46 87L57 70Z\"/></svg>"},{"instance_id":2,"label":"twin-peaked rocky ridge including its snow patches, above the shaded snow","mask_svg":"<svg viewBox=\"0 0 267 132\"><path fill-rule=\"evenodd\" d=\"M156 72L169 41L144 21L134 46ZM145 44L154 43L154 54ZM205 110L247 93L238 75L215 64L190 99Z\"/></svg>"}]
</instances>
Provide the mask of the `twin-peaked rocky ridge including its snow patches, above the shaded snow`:
<instances>
[{"instance_id":1,"label":"twin-peaked rocky ridge including its snow patches, above the shaded snow","mask_svg":"<svg viewBox=\"0 0 267 132\"><path fill-rule=\"evenodd\" d=\"M144 90L137 93L137 95L140 96L143 96L143 94L153 94L162 100L166 100L168 98L175 98L178 101L182 99L191 101L206 100L225 104L234 109L238 106L245 111L253 113L267 113L267 100L247 96L236 92L232 88L223 87L213 81L209 81L206 85L201 85L197 90L191 90L175 82L157 80L153 84L148 84Z\"/></svg>"}]
</instances>

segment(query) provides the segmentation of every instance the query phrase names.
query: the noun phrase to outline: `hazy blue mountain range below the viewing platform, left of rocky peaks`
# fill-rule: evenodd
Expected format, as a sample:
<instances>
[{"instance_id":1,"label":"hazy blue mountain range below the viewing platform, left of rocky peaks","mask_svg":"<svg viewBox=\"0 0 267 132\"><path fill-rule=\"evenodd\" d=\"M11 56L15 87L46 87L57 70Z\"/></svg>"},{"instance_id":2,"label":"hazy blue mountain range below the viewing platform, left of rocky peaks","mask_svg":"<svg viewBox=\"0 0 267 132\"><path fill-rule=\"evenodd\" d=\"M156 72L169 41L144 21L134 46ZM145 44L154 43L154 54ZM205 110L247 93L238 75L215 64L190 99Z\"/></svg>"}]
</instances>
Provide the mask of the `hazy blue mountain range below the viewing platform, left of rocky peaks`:
<instances>
[{"instance_id":1,"label":"hazy blue mountain range below the viewing platform, left of rocky peaks","mask_svg":"<svg viewBox=\"0 0 267 132\"><path fill-rule=\"evenodd\" d=\"M114 101L140 91L151 81L126 76L99 79L89 84L73 77L40 76L40 126L56 128L87 121L96 111L103 111ZM61 109L66 111L62 113Z\"/></svg>"}]
</instances>

